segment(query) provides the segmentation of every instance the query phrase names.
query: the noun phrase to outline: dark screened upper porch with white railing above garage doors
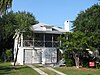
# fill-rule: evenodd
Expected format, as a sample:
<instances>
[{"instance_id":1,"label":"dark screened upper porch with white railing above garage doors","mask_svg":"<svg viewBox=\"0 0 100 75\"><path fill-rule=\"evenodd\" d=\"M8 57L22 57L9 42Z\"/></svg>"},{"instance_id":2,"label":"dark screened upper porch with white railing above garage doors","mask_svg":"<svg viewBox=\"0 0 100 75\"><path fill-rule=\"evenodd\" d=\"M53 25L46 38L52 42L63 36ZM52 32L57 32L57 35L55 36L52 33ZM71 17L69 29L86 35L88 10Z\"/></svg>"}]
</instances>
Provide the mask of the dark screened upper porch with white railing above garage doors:
<instances>
[{"instance_id":1,"label":"dark screened upper porch with white railing above garage doors","mask_svg":"<svg viewBox=\"0 0 100 75\"><path fill-rule=\"evenodd\" d=\"M58 41L60 34L51 33L33 33L31 35L23 34L24 47L59 47L61 42Z\"/></svg>"}]
</instances>

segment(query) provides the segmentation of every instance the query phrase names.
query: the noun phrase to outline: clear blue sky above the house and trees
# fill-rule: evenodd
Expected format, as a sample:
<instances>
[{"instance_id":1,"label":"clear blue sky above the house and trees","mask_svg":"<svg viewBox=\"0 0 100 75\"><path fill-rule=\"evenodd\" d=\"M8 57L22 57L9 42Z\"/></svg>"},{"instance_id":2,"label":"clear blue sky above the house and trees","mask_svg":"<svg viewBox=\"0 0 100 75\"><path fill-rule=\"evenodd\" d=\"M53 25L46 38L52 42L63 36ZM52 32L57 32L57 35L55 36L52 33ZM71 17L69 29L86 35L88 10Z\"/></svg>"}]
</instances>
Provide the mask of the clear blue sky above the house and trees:
<instances>
[{"instance_id":1,"label":"clear blue sky above the house and trees","mask_svg":"<svg viewBox=\"0 0 100 75\"><path fill-rule=\"evenodd\" d=\"M98 0L13 0L12 10L30 12L41 23L63 28L66 20L74 21L80 11L97 3Z\"/></svg>"}]
</instances>

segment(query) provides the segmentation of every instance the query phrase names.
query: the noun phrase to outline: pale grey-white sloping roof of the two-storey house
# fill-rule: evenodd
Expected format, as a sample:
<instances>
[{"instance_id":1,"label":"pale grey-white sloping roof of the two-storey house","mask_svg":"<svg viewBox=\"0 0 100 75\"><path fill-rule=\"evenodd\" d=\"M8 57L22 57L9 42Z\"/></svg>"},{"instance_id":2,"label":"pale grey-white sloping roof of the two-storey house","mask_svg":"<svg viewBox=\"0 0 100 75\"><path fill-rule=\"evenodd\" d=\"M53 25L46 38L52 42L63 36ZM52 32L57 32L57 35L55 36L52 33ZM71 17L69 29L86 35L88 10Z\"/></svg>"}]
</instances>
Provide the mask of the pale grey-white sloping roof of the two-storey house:
<instances>
[{"instance_id":1,"label":"pale grey-white sloping roof of the two-storey house","mask_svg":"<svg viewBox=\"0 0 100 75\"><path fill-rule=\"evenodd\" d=\"M32 25L32 31L34 33L53 33L53 34L62 34L66 32L64 29L50 26L44 23L38 23L38 24Z\"/></svg>"}]
</instances>

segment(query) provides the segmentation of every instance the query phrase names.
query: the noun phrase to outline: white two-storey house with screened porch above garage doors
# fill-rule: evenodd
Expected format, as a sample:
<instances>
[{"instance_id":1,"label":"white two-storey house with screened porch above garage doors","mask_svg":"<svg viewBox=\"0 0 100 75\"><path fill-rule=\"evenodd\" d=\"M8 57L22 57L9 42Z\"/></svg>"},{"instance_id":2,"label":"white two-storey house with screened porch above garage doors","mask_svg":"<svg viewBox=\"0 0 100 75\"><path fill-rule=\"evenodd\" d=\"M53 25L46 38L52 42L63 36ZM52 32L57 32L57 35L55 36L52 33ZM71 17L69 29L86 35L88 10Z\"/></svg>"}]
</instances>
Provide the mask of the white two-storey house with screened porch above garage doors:
<instances>
[{"instance_id":1,"label":"white two-storey house with screened porch above garage doors","mask_svg":"<svg viewBox=\"0 0 100 75\"><path fill-rule=\"evenodd\" d=\"M61 44L57 38L66 30L38 23L32 26L32 34L27 32L16 33L14 36L14 59L17 55L17 64L55 64L57 50Z\"/></svg>"}]
</instances>

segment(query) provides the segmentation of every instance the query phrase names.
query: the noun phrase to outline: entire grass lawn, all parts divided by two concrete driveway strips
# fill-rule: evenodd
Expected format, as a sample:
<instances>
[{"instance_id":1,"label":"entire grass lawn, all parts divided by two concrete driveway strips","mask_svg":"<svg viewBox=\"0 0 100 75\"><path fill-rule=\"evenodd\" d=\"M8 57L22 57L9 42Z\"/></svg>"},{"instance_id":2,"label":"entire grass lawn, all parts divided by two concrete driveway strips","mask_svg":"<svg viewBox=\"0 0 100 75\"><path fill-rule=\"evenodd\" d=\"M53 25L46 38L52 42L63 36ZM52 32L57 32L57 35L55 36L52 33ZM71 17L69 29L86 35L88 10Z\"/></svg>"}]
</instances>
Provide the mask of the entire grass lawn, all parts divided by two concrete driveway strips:
<instances>
[{"instance_id":1,"label":"entire grass lawn, all parts divided by two concrete driveway strips","mask_svg":"<svg viewBox=\"0 0 100 75\"><path fill-rule=\"evenodd\" d=\"M58 75L57 73L47 69L41 65L34 65L40 68L49 75ZM100 75L100 69L93 68L80 68L76 69L74 67L55 67L54 69L61 71L67 75ZM0 63L0 75L39 75L33 69L27 66L11 66L10 63Z\"/></svg>"}]
</instances>

